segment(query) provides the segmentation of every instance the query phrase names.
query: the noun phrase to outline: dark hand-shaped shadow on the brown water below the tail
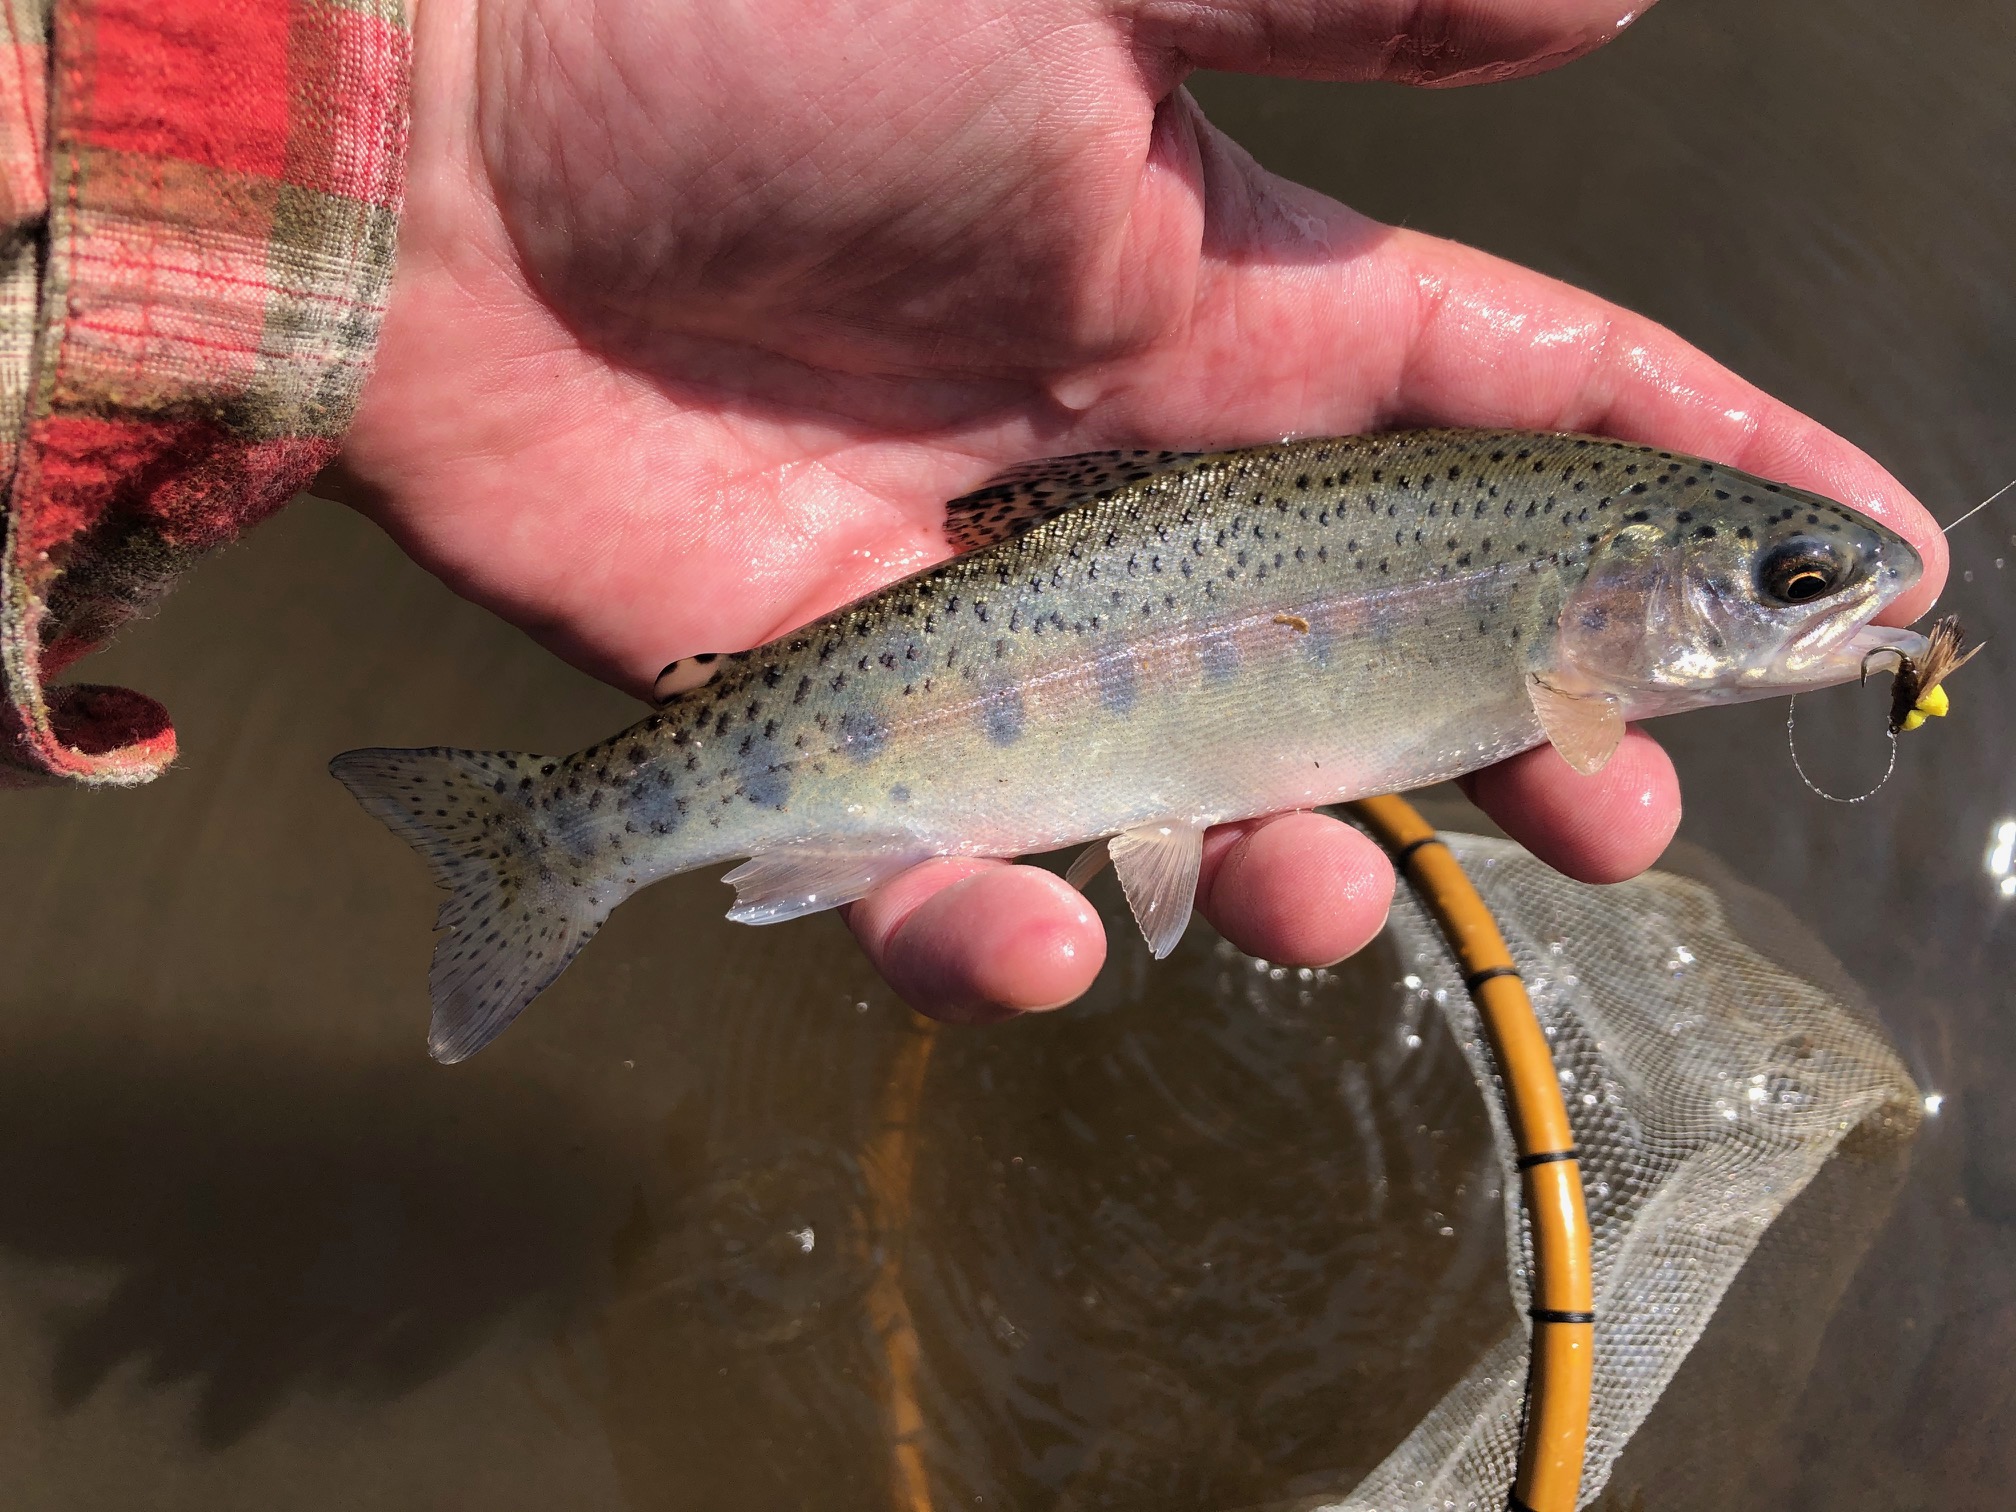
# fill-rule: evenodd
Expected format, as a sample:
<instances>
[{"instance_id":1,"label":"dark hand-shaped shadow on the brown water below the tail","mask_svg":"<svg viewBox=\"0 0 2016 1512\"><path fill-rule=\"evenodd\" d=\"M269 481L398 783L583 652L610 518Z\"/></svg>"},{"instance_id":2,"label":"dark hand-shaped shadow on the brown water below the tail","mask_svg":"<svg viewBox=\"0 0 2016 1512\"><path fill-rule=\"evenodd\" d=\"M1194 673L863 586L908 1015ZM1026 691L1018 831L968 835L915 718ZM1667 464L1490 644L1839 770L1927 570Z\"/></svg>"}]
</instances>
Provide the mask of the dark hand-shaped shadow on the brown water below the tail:
<instances>
[{"instance_id":1,"label":"dark hand-shaped shadow on the brown water below the tail","mask_svg":"<svg viewBox=\"0 0 2016 1512\"><path fill-rule=\"evenodd\" d=\"M97 1292L50 1304L56 1409L133 1367L196 1383L208 1447L294 1393L405 1393L520 1308L579 1308L623 1169L579 1101L425 1062L83 1032L0 1058L0 1250Z\"/></svg>"}]
</instances>

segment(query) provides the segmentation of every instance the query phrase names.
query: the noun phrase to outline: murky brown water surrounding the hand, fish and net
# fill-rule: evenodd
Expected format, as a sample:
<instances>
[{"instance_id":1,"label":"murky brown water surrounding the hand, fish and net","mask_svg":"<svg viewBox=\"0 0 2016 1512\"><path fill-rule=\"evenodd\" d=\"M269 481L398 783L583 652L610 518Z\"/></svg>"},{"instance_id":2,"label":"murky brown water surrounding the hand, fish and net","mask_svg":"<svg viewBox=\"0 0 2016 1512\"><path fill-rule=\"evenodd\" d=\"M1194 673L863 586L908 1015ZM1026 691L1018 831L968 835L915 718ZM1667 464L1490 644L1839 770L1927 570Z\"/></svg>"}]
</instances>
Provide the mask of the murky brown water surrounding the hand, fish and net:
<instances>
[{"instance_id":1,"label":"murky brown water surrounding the hand, fish and net","mask_svg":"<svg viewBox=\"0 0 2016 1512\"><path fill-rule=\"evenodd\" d=\"M1996 0L1673 0L1516 85L1195 91L1284 173L1677 327L1951 516L2016 474L2012 65ZM1873 802L1798 784L1778 706L1661 732L1685 837L1839 956L1943 1105L1820 1302L1718 1320L1609 1506L1706 1504L1710 1460L1718 1506L2006 1498L2016 506L1954 544L1947 605L1998 645ZM323 772L573 748L635 706L317 502L95 671L161 696L185 756L4 798L0 1498L893 1506L863 1151L909 1028L843 929L738 929L677 879L444 1070L431 889ZM1816 776L1881 764L1877 702L1802 706ZM1081 1008L939 1036L905 1250L939 1506L1343 1486L1462 1375L1508 1308L1498 1189L1393 978L1375 950L1272 980L1198 925L1163 968L1123 943ZM1770 1431L1718 1441L1718 1393Z\"/></svg>"}]
</instances>

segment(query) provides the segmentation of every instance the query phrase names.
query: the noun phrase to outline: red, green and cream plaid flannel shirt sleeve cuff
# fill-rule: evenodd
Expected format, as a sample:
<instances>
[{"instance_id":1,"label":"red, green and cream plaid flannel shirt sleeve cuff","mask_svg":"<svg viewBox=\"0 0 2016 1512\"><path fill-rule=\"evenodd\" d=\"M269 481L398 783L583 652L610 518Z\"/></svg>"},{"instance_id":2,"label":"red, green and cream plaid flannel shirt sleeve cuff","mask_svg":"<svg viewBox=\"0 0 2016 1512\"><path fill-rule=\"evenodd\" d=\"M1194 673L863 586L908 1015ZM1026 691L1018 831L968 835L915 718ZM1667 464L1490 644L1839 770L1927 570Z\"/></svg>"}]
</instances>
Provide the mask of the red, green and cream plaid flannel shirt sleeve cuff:
<instances>
[{"instance_id":1,"label":"red, green and cream plaid flannel shirt sleeve cuff","mask_svg":"<svg viewBox=\"0 0 2016 1512\"><path fill-rule=\"evenodd\" d=\"M0 786L133 784L52 683L337 452L405 171L401 0L0 0Z\"/></svg>"}]
</instances>

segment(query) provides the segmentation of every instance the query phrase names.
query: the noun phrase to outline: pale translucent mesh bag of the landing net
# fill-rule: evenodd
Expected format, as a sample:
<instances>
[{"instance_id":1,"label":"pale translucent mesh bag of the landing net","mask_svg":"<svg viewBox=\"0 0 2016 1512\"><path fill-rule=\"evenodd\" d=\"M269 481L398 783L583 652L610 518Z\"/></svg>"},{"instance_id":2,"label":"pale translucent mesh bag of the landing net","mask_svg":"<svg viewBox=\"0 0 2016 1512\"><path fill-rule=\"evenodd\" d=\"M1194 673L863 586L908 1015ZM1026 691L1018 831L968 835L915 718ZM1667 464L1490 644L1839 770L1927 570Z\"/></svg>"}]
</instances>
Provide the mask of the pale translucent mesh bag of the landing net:
<instances>
[{"instance_id":1,"label":"pale translucent mesh bag of the landing net","mask_svg":"<svg viewBox=\"0 0 2016 1512\"><path fill-rule=\"evenodd\" d=\"M1697 875L1667 869L1587 887L1508 841L1445 839L1526 978L1581 1149L1597 1282L1581 1494L1589 1506L1780 1214L1845 1145L1867 1165L1901 1151L1919 1097L1839 968L1770 899L1712 875L1712 863L1681 861ZM1405 887L1391 927L1486 1089L1524 1314L1530 1246L1490 1046L1441 933ZM1748 1278L1748 1306L1768 1306L1774 1282L1824 1286L1853 1248L1851 1230L1826 1212L1780 1226L1766 1246L1768 1274ZM1526 1355L1526 1329L1508 1329L1371 1476L1341 1500L1308 1506L1502 1508ZM1699 1419L1702 1403L1675 1405L1687 1411ZM1699 1462L1704 1445L1687 1458ZM1706 1480L1695 1476L1695 1494ZM1661 1472L1659 1484L1671 1492L1673 1474Z\"/></svg>"}]
</instances>

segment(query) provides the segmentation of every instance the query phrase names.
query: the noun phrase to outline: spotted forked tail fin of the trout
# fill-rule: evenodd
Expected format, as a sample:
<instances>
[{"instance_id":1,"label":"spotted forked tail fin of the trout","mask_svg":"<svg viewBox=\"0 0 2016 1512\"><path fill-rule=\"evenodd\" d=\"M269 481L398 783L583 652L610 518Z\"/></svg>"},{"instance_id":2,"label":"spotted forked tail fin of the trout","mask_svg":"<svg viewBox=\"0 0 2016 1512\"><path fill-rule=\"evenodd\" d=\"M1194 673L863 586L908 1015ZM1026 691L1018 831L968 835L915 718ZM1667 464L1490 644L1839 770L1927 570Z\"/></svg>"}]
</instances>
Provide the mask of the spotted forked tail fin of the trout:
<instances>
[{"instance_id":1,"label":"spotted forked tail fin of the trout","mask_svg":"<svg viewBox=\"0 0 2016 1512\"><path fill-rule=\"evenodd\" d=\"M536 806L542 766L544 756L439 746L347 750L329 764L450 893L427 972L435 1060L464 1060L504 1032L627 891L554 865Z\"/></svg>"}]
</instances>

